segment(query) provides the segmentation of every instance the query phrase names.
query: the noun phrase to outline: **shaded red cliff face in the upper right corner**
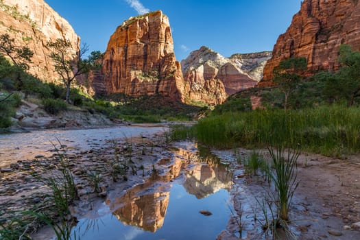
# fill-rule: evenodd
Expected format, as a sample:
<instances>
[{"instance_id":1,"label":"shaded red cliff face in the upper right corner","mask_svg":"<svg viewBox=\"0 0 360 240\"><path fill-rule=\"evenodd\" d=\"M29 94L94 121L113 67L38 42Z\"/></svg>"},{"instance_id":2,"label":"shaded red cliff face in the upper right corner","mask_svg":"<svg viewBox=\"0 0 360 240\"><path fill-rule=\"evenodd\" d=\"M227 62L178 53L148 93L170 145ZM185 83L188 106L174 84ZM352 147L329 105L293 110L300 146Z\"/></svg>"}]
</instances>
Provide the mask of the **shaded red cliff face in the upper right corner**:
<instances>
[{"instance_id":1,"label":"shaded red cliff face in the upper right corner","mask_svg":"<svg viewBox=\"0 0 360 240\"><path fill-rule=\"evenodd\" d=\"M353 0L305 0L290 27L279 36L273 58L264 69L261 86L271 84L272 71L282 60L305 57L308 74L336 70L341 44L360 50L360 4Z\"/></svg>"}]
</instances>

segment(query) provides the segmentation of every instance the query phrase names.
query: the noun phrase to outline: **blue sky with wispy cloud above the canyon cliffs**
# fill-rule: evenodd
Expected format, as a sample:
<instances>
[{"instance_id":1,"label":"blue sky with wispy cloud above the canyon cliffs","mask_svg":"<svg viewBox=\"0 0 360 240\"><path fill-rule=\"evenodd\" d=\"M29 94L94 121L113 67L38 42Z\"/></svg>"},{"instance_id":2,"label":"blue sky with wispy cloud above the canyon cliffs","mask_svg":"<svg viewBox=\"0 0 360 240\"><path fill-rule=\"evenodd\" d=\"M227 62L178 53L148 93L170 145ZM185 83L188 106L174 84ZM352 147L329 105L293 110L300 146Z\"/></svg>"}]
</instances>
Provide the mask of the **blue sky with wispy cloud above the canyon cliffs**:
<instances>
[{"instance_id":1,"label":"blue sky with wispy cloud above the canyon cliffs","mask_svg":"<svg viewBox=\"0 0 360 240\"><path fill-rule=\"evenodd\" d=\"M130 16L163 10L176 59L205 45L233 53L272 51L278 35L300 10L300 0L45 0L63 16L91 51L105 51L118 25Z\"/></svg>"}]
</instances>

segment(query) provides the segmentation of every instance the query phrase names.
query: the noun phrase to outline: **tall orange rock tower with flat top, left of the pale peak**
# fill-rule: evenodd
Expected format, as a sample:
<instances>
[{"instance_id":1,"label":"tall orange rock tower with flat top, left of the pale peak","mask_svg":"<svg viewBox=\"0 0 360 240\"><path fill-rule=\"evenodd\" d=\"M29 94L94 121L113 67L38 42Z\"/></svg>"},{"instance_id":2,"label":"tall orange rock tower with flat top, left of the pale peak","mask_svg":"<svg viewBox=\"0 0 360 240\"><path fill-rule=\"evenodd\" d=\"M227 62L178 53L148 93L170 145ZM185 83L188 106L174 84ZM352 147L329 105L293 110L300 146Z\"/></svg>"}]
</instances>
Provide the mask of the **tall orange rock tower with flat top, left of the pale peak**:
<instances>
[{"instance_id":1,"label":"tall orange rock tower with flat top, left of the pale peak","mask_svg":"<svg viewBox=\"0 0 360 240\"><path fill-rule=\"evenodd\" d=\"M182 100L183 80L176 62L169 19L150 12L125 21L110 37L97 93L125 93L132 97L163 95Z\"/></svg>"}]
</instances>

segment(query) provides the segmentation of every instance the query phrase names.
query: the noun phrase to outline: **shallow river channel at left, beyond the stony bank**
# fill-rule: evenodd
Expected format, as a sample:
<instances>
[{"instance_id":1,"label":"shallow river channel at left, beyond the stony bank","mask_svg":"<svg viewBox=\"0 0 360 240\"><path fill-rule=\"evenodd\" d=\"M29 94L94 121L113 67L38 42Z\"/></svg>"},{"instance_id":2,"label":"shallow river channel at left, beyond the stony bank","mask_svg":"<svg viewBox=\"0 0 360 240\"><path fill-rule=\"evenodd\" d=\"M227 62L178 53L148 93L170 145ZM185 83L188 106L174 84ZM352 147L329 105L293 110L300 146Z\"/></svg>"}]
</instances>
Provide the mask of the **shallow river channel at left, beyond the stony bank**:
<instances>
[{"instance_id":1,"label":"shallow river channel at left, beyond the stony bank","mask_svg":"<svg viewBox=\"0 0 360 240\"><path fill-rule=\"evenodd\" d=\"M38 130L34 132L0 134L0 167L14 163L17 160L28 160L38 154L51 156L54 143L58 140L67 149L83 151L98 148L106 140L130 138L163 130L163 127L143 128L141 125L120 126L116 128L86 129L86 130Z\"/></svg>"}]
</instances>

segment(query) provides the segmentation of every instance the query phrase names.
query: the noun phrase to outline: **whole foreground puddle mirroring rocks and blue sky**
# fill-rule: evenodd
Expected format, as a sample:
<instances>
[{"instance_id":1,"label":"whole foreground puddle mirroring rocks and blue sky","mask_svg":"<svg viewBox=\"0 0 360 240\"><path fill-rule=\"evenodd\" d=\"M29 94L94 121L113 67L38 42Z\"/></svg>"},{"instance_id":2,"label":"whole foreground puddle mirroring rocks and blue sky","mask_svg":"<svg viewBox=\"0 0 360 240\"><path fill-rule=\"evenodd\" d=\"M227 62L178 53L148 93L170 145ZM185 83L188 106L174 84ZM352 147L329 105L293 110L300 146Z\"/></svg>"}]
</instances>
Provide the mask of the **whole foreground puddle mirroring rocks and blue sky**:
<instances>
[{"instance_id":1,"label":"whole foreground puddle mirroring rocks and blue sky","mask_svg":"<svg viewBox=\"0 0 360 240\"><path fill-rule=\"evenodd\" d=\"M84 240L216 239L230 219L226 165L187 143L156 167L158 174L144 184L110 192L73 232Z\"/></svg>"}]
</instances>

